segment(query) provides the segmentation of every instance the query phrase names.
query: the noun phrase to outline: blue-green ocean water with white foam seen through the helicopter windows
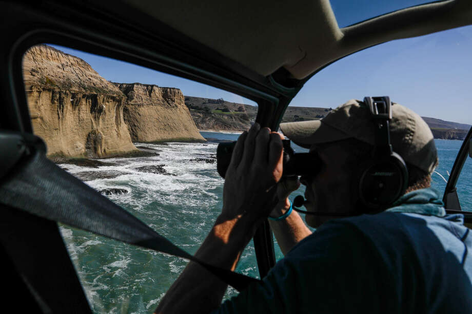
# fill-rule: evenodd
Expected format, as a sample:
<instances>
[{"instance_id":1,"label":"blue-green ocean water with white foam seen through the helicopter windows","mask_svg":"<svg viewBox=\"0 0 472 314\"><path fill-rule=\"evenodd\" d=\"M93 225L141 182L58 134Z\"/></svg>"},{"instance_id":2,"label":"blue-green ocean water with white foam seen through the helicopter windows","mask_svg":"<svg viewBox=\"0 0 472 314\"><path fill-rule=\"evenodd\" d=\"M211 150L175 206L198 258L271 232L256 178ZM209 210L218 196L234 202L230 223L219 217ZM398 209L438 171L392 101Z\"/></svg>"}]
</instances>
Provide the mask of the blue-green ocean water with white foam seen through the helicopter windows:
<instances>
[{"instance_id":1,"label":"blue-green ocean water with white foam seen through the helicopter windows","mask_svg":"<svg viewBox=\"0 0 472 314\"><path fill-rule=\"evenodd\" d=\"M201 132L205 138L236 140L239 134ZM445 180L462 144L458 140L435 140L440 164L432 175L432 186L444 191ZM61 164L84 178L96 190L123 189L110 195L115 203L141 219L155 231L193 254L205 238L222 207L224 180L216 170L217 142L167 143L146 146L160 155L111 158L112 165L90 169ZM296 145L295 145L296 146ZM296 151L306 151L294 147ZM158 166L158 167L156 167ZM159 171L156 171L159 170ZM91 172L97 172L92 173ZM147 171L147 172L146 172ZM458 181L463 210L472 211L472 158L468 158ZM291 196L303 195L304 187ZM135 247L60 225L71 259L95 313L149 313L184 269L187 261L149 249ZM276 258L282 258L276 245ZM259 277L254 246L244 250L237 271ZM237 292L228 288L225 298Z\"/></svg>"}]
</instances>

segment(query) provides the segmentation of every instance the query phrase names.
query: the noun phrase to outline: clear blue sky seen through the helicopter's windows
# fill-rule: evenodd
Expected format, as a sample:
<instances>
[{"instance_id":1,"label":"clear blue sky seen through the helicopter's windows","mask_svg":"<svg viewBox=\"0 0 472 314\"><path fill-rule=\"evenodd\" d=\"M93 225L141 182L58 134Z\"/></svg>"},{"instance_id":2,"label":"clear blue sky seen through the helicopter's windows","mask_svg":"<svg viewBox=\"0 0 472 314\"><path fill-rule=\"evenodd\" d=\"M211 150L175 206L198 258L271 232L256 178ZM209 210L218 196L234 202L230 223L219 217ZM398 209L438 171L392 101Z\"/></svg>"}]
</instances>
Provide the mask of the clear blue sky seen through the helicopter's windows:
<instances>
[{"instance_id":1,"label":"clear blue sky seen through the helicopter's windows","mask_svg":"<svg viewBox=\"0 0 472 314\"><path fill-rule=\"evenodd\" d=\"M338 24L344 27L425 2L331 0L331 5ZM176 87L186 96L224 98L255 105L249 99L202 83L123 61L51 46L84 59L100 75L113 82ZM390 41L344 57L321 70L305 83L290 106L335 108L352 98L362 100L364 96L390 96L392 101L421 116L471 124L470 51L472 26Z\"/></svg>"}]
</instances>

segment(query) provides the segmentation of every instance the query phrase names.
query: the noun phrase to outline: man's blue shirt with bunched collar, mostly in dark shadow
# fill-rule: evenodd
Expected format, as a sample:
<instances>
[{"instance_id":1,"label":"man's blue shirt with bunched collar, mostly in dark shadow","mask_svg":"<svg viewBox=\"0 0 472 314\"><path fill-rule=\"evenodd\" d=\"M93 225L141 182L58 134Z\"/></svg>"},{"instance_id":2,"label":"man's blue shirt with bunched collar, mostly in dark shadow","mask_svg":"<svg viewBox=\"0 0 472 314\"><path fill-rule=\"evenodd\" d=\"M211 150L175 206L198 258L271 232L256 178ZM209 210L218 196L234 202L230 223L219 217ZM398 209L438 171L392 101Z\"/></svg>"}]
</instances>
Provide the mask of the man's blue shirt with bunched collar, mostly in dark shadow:
<instances>
[{"instance_id":1,"label":"man's blue shirt with bunched collar, mostly in dark shadow","mask_svg":"<svg viewBox=\"0 0 472 314\"><path fill-rule=\"evenodd\" d=\"M215 313L472 312L472 236L434 189L335 219Z\"/></svg>"}]
</instances>

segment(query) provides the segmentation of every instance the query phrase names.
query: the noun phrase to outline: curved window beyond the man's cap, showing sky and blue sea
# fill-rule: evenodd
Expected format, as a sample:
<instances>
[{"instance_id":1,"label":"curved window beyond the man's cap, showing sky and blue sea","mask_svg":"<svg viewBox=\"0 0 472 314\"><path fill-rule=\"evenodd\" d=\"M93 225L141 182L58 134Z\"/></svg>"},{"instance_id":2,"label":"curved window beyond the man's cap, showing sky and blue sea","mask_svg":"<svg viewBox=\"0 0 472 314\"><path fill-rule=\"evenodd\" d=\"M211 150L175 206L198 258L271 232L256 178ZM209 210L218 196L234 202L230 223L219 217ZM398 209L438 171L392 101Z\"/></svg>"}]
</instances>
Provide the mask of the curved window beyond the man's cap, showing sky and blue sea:
<instances>
[{"instance_id":1,"label":"curved window beyond the man's cap, showing sky and blue sea","mask_svg":"<svg viewBox=\"0 0 472 314\"><path fill-rule=\"evenodd\" d=\"M470 49L472 27L467 26L395 40L349 55L308 80L291 101L282 122L322 119L350 99L390 96L429 125L439 156L431 185L442 195L472 122ZM470 163L469 158L457 184L462 209L468 211L472 210ZM303 195L304 191L302 185L296 194Z\"/></svg>"}]
</instances>

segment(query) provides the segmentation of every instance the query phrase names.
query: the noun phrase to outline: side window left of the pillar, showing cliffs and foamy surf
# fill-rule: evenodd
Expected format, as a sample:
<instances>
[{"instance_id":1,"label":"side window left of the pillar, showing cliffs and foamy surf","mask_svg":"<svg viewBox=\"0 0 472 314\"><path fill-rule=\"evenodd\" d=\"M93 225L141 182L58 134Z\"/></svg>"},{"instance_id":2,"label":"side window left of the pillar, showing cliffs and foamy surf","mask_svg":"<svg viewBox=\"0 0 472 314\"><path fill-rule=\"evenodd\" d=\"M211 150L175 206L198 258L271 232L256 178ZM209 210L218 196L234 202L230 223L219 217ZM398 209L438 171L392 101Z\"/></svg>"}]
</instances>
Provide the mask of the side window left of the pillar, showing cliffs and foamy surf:
<instances>
[{"instance_id":1,"label":"side window left of the pillar, showing cliffs and foamy surf","mask_svg":"<svg viewBox=\"0 0 472 314\"><path fill-rule=\"evenodd\" d=\"M32 47L23 73L48 157L193 254L222 208L221 141L250 127L238 95L101 56ZM165 86L165 87L163 87ZM75 228L61 233L96 313L154 310L187 262ZM253 244L237 271L258 277ZM228 289L226 298L235 294Z\"/></svg>"}]
</instances>

